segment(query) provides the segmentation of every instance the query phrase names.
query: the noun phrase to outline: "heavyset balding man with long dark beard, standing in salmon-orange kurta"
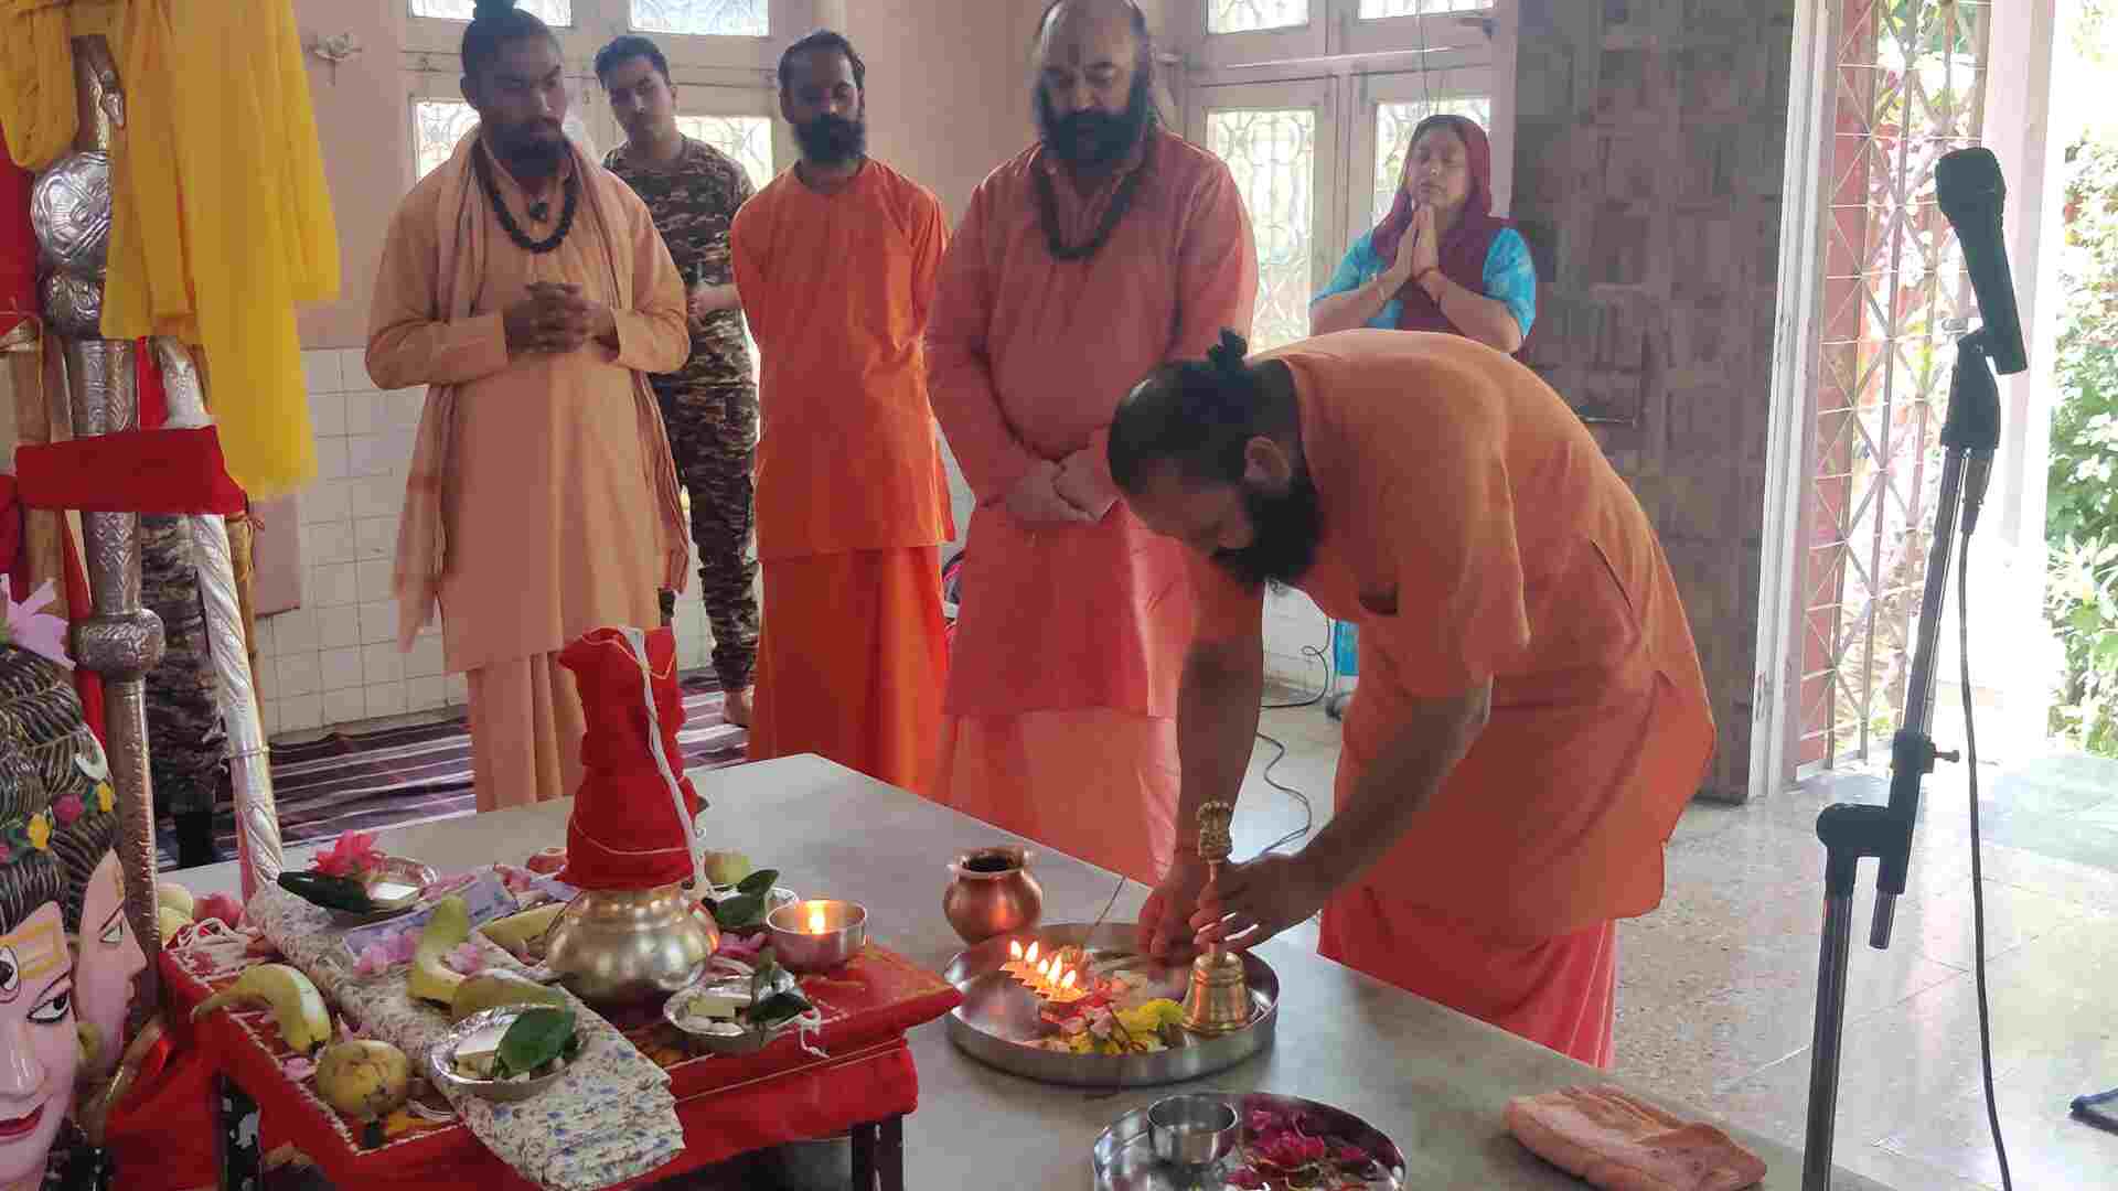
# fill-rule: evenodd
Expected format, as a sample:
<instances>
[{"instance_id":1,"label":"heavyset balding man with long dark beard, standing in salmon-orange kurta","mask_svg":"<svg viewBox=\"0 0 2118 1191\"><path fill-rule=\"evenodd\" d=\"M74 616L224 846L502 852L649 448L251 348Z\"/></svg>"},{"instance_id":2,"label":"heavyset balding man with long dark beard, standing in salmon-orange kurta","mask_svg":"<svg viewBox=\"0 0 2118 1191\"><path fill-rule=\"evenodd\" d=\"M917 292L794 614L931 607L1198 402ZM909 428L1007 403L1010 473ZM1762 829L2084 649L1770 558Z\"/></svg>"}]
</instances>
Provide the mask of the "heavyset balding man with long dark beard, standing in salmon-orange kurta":
<instances>
[{"instance_id":1,"label":"heavyset balding man with long dark beard, standing in salmon-orange kurta","mask_svg":"<svg viewBox=\"0 0 2118 1191\"><path fill-rule=\"evenodd\" d=\"M1116 500L1110 394L1250 326L1258 263L1228 167L1154 119L1133 4L1055 4L1038 70L1044 136L972 195L928 331L979 500L934 799L1152 882L1192 598Z\"/></svg>"}]
</instances>

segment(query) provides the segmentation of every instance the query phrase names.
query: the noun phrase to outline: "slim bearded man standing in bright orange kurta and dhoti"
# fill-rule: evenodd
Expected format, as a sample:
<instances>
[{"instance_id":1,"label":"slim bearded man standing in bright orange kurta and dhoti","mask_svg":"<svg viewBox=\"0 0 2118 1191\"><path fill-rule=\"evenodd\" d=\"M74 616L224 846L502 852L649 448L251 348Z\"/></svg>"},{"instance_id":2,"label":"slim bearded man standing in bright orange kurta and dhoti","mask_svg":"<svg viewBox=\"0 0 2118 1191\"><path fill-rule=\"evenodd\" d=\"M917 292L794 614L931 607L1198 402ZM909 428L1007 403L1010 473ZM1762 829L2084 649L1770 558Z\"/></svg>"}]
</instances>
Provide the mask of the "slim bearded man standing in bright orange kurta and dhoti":
<instances>
[{"instance_id":1,"label":"slim bearded man standing in bright orange kurta and dhoti","mask_svg":"<svg viewBox=\"0 0 2118 1191\"><path fill-rule=\"evenodd\" d=\"M921 790L955 521L919 337L949 220L866 155L864 87L843 36L788 47L779 110L803 157L735 216L735 286L765 358L750 759L820 752Z\"/></svg>"}]
</instances>

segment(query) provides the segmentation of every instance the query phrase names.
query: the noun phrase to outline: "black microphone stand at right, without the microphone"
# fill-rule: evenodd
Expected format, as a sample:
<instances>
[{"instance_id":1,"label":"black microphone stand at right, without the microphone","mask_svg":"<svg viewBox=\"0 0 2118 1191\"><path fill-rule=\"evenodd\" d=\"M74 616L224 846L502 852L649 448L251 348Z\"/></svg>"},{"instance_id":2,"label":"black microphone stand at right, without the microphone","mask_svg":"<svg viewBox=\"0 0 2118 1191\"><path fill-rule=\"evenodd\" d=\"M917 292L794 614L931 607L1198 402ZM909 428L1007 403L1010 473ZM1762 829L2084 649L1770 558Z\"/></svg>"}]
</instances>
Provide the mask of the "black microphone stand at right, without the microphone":
<instances>
[{"instance_id":1,"label":"black microphone stand at right, without the microphone","mask_svg":"<svg viewBox=\"0 0 2118 1191\"><path fill-rule=\"evenodd\" d=\"M1824 945L1817 960L1817 1030L1809 1066L1809 1136L1802 1146L1802 1191L1830 1191L1832 1127L1838 1113L1838 1045L1847 1013L1847 952L1853 937L1853 884L1864 856L1881 860L1874 879L1874 922L1868 945L1889 947L1889 928L1904 892L1913 858L1913 822L1919 818L1919 786L1934 763L1957 761L1938 752L1927 725L1934 718L1934 648L1942 636L1942 600L1949 593L1949 564L1963 513L1970 540L1985 502L1993 449L1999 447L1999 388L1987 362L1985 331L1957 339L1957 365L1949 379L1949 422L1942 424L1942 494L1934 511L1934 545L1927 553L1927 589L1919 600L1919 644L1913 651L1904 721L1889 744L1889 805L1836 803L1817 814L1824 865ZM1961 610L1959 610L1961 615Z\"/></svg>"}]
</instances>

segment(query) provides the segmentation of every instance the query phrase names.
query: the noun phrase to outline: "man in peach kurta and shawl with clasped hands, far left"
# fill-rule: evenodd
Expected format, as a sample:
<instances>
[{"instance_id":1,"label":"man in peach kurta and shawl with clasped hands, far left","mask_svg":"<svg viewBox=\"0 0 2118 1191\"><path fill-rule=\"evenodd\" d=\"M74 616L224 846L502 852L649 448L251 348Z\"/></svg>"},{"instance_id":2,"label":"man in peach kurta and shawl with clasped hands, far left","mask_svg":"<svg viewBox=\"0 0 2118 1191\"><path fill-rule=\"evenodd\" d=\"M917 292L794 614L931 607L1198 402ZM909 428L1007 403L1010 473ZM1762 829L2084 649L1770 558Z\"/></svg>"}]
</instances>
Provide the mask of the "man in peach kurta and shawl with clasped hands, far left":
<instances>
[{"instance_id":1,"label":"man in peach kurta and shawl with clasped hands, far left","mask_svg":"<svg viewBox=\"0 0 2118 1191\"><path fill-rule=\"evenodd\" d=\"M684 362L684 286L646 206L559 131L559 42L530 13L464 32L474 127L383 242L369 375L424 384L398 523L398 644L441 606L470 678L479 810L580 784L559 651L654 625L688 545L644 373Z\"/></svg>"}]
</instances>

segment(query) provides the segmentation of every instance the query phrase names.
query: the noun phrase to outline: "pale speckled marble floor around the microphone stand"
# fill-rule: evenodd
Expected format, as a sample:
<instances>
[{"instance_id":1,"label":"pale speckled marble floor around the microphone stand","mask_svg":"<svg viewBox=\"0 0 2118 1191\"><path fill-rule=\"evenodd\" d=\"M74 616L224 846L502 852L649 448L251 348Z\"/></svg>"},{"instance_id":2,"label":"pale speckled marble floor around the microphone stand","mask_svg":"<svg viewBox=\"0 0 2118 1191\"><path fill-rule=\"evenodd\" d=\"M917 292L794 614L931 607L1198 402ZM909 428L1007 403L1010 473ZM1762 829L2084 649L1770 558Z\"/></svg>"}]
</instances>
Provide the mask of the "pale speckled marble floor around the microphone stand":
<instances>
[{"instance_id":1,"label":"pale speckled marble floor around the microphone stand","mask_svg":"<svg viewBox=\"0 0 2118 1191\"><path fill-rule=\"evenodd\" d=\"M1273 778L1330 812L1336 723L1271 710L1286 744ZM1305 822L1252 759L1237 854ZM1838 1085L1843 1166L1919 1191L1999 1187L1978 1074L1972 979L1970 799L1961 767L1927 782L1906 896L1887 952L1866 945L1874 867L1862 871ZM1618 1068L1800 1146L1834 801L1885 801L1887 776L1853 774L1686 810L1661 909L1620 924ZM1987 979L1993 1074L2014 1185L2118 1189L2118 1136L2067 1102L2118 1087L2118 761L2052 757L1985 767ZM1311 941L1315 924L1303 928Z\"/></svg>"}]
</instances>

